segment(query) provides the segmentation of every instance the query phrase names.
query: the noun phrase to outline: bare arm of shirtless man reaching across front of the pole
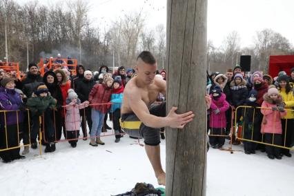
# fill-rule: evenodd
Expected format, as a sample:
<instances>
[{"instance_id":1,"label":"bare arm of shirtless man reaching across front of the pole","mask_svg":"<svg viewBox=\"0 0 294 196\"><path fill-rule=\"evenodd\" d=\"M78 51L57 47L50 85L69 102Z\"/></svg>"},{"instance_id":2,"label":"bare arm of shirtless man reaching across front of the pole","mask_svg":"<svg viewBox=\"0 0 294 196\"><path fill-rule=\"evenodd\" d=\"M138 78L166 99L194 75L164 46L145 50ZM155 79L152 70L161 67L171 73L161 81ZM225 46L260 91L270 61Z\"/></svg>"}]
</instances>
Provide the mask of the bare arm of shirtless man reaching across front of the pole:
<instances>
[{"instance_id":1,"label":"bare arm of shirtless man reaching across front of the pole","mask_svg":"<svg viewBox=\"0 0 294 196\"><path fill-rule=\"evenodd\" d=\"M150 115L150 112L142 101L140 96L134 96L137 93L134 90L126 90L124 96L128 101L128 106L133 110L135 115L144 123L144 125L151 128L161 128L170 126L171 128L184 128L184 126L193 120L195 116L193 112L186 112L184 114L178 115L175 113L177 108L173 107L166 117L157 117L155 115Z\"/></svg>"}]
</instances>

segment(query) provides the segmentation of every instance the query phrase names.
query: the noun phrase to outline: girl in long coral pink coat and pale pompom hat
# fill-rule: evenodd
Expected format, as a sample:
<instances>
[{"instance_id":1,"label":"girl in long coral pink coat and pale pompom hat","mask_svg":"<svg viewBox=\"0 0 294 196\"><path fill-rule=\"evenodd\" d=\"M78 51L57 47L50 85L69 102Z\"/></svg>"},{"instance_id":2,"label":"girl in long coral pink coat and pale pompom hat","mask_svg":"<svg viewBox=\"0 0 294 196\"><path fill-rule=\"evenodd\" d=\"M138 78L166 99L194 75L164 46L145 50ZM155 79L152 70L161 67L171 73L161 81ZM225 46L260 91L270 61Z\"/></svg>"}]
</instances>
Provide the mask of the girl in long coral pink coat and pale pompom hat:
<instances>
[{"instance_id":1,"label":"girl in long coral pink coat and pale pompom hat","mask_svg":"<svg viewBox=\"0 0 294 196\"><path fill-rule=\"evenodd\" d=\"M262 102L262 121L261 133L264 134L264 141L268 144L282 145L282 121L281 117L286 115L282 96L277 88L271 87L264 94ZM282 159L280 148L266 145L266 154L269 159Z\"/></svg>"}]
</instances>

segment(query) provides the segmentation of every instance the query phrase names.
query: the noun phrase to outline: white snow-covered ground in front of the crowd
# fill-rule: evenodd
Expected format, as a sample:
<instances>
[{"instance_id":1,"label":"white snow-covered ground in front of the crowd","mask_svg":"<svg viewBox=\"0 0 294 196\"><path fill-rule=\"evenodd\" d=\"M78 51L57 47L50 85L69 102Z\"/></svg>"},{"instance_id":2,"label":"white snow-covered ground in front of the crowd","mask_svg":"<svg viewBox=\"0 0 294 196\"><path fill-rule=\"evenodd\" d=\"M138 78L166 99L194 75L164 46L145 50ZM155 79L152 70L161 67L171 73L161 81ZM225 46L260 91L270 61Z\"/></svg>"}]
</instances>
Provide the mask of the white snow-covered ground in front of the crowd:
<instances>
[{"instance_id":1,"label":"white snow-covered ground in front of the crowd","mask_svg":"<svg viewBox=\"0 0 294 196\"><path fill-rule=\"evenodd\" d=\"M144 147L125 136L103 137L105 146L92 147L80 140L77 148L59 142L55 153L38 156L30 149L26 159L0 163L0 195L115 195L137 182L157 186ZM226 140L227 142L227 140ZM141 141L143 143L143 141ZM161 157L165 165L165 141ZM242 146L233 146L242 150ZM294 154L294 153L293 153ZM233 154L210 148L207 160L207 194L294 195L294 158L270 160L265 153Z\"/></svg>"}]
</instances>

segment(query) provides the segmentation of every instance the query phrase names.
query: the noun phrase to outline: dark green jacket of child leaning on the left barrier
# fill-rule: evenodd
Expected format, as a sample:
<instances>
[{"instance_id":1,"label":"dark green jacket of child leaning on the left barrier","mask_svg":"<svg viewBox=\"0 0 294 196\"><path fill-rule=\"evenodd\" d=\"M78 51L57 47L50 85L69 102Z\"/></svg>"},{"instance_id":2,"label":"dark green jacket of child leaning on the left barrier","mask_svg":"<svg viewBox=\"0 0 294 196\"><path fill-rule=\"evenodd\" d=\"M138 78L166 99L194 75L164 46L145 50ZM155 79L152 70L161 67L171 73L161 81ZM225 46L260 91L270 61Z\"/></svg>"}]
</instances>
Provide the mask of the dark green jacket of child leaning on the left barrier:
<instances>
[{"instance_id":1,"label":"dark green jacket of child leaning on the left barrier","mask_svg":"<svg viewBox=\"0 0 294 196\"><path fill-rule=\"evenodd\" d=\"M50 108L53 110L57 104L56 99L54 99L49 93L47 97L41 97L33 95L30 99L28 99L26 105L32 111L32 115L42 115L42 113Z\"/></svg>"}]
</instances>

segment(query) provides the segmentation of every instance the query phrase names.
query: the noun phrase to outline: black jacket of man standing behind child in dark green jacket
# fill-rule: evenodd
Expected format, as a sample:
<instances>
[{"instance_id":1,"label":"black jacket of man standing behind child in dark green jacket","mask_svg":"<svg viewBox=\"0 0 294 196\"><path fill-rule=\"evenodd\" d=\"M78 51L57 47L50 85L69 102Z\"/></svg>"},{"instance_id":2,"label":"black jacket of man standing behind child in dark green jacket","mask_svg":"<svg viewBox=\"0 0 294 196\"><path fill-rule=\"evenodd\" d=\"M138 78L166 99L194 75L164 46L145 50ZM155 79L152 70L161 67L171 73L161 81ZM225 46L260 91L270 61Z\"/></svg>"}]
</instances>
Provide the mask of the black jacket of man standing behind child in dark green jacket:
<instances>
[{"instance_id":1,"label":"black jacket of man standing behind child in dark green jacket","mask_svg":"<svg viewBox=\"0 0 294 196\"><path fill-rule=\"evenodd\" d=\"M23 93L26 97L32 97L32 92L37 90L37 87L41 82L43 82L43 78L41 75L33 75L30 72L27 73L26 77L24 77L21 82L23 83Z\"/></svg>"}]
</instances>

